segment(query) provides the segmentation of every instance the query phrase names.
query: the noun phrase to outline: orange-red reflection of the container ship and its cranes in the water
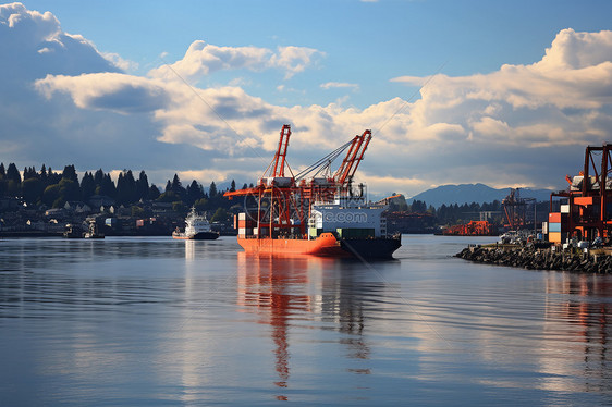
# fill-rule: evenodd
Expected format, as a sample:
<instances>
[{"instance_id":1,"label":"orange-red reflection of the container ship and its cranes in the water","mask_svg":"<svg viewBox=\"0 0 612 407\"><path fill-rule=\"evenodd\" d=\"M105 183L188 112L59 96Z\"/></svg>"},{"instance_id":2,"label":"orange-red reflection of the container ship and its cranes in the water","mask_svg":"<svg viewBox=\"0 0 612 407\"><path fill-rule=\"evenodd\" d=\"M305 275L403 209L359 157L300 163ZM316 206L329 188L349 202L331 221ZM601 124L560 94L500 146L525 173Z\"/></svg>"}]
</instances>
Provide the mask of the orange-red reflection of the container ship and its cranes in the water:
<instances>
[{"instance_id":1,"label":"orange-red reflection of the container ship and its cranes in the water","mask_svg":"<svg viewBox=\"0 0 612 407\"><path fill-rule=\"evenodd\" d=\"M291 337L303 329L335 332L344 357L360 360L346 363L345 371L370 374L367 310L377 312L395 298L384 283L364 275L360 262L345 259L237 254L237 305L271 326L277 387L290 386Z\"/></svg>"}]
</instances>

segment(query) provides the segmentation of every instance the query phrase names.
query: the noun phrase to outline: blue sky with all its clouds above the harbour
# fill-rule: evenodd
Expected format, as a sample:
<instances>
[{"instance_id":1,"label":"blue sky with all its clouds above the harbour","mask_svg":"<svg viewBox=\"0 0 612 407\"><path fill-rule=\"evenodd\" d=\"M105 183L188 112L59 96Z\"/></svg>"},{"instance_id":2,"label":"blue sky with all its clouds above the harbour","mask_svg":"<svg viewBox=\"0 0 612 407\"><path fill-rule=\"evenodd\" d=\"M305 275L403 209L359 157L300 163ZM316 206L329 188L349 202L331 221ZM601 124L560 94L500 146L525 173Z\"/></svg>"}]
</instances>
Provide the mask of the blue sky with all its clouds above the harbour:
<instances>
[{"instance_id":1,"label":"blue sky with all its clouds above the harbour","mask_svg":"<svg viewBox=\"0 0 612 407\"><path fill-rule=\"evenodd\" d=\"M565 188L612 141L611 1L0 4L0 162L207 186L364 130L372 195ZM339 164L339 163L338 163Z\"/></svg>"}]
</instances>

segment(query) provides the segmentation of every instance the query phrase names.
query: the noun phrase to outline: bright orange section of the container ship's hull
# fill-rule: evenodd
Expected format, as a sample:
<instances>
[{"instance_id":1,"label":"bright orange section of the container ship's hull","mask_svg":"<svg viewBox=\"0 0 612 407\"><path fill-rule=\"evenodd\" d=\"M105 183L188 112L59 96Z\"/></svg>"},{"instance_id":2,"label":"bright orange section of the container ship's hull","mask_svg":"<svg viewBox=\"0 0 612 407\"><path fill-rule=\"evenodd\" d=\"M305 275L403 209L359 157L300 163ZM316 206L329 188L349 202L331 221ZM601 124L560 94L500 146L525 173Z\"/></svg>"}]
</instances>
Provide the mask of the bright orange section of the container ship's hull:
<instances>
[{"instance_id":1,"label":"bright orange section of the container ship's hull","mask_svg":"<svg viewBox=\"0 0 612 407\"><path fill-rule=\"evenodd\" d=\"M246 252L260 255L315 255L315 256L351 256L341 247L340 242L331 233L322 233L313 240L291 238L244 238L238 236L238 244Z\"/></svg>"}]
</instances>

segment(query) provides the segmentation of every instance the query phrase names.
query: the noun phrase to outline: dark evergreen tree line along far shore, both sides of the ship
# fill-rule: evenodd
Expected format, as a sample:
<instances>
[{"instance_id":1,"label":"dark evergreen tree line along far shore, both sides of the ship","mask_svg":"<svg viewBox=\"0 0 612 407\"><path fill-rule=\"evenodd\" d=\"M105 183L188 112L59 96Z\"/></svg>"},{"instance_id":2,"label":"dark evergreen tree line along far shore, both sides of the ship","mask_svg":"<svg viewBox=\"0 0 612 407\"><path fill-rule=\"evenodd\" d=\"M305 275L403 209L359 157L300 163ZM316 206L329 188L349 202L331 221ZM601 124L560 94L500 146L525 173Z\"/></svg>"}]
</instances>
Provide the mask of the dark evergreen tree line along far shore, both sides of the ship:
<instances>
[{"instance_id":1,"label":"dark evergreen tree line along far shore, both sides of the ship","mask_svg":"<svg viewBox=\"0 0 612 407\"><path fill-rule=\"evenodd\" d=\"M250 185L243 185L246 188ZM230 188L235 190L236 183L232 180ZM137 206L140 201L161 201L172 203L176 211L186 211L195 206L197 210L215 211L217 219L225 219L230 206L234 202L223 198L225 190L218 190L217 184L211 182L205 192L201 184L193 180L186 187L179 175L168 180L166 187L160 189L149 184L145 171L135 177L132 170L119 173L117 183L109 173L101 169L96 172L85 172L79 180L74 165L65 165L62 172L56 172L45 164L39 171L34 166L25 168L22 173L14 163L7 168L0 163L0 197L20 197L29 207L61 208L66 201L87 202L95 195L112 198L117 205L125 207ZM134 208L138 212L138 208ZM391 211L407 211L409 213L430 213L438 224L456 224L476 217L481 211L501 212L502 203L494 200L489 203L452 203L439 208L428 206L425 201L414 200L411 205L391 203ZM133 211L134 212L134 211ZM142 214L142 213L135 213ZM501 220L502 214L493 217Z\"/></svg>"}]
</instances>

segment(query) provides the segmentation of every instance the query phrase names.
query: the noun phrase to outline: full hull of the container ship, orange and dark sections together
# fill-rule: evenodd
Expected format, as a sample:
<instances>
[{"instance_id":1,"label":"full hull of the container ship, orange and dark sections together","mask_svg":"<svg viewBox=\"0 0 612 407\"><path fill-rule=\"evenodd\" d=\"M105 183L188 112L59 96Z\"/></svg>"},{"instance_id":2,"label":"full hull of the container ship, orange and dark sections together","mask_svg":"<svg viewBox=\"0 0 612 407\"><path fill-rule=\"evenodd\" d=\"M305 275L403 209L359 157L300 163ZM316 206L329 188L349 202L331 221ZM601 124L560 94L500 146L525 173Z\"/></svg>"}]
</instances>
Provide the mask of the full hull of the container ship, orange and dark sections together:
<instances>
[{"instance_id":1,"label":"full hull of the container ship, orange and dark sections together","mask_svg":"<svg viewBox=\"0 0 612 407\"><path fill-rule=\"evenodd\" d=\"M401 246L400 237L338 239L331 233L322 233L316 239L245 238L238 244L246 252L260 255L294 256L313 255L325 257L391 258Z\"/></svg>"}]
</instances>

